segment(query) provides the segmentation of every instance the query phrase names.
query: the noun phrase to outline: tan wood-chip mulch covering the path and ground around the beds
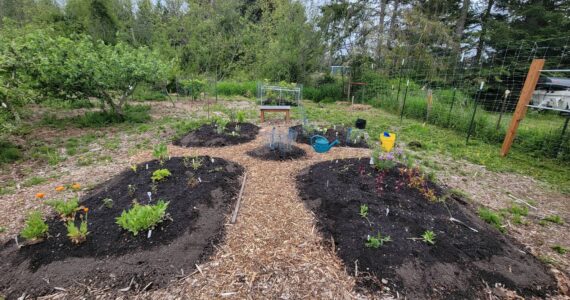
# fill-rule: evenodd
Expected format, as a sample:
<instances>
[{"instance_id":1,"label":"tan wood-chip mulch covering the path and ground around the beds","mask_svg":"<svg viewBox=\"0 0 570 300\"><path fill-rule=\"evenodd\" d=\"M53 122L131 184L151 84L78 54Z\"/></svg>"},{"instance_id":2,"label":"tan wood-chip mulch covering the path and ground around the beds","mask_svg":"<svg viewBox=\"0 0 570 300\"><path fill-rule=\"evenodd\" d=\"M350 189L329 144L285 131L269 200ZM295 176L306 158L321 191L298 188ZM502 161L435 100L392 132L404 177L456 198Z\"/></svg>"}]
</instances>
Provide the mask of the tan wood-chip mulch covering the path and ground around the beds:
<instances>
[{"instance_id":1,"label":"tan wood-chip mulch covering the path and ground around the beds","mask_svg":"<svg viewBox=\"0 0 570 300\"><path fill-rule=\"evenodd\" d=\"M248 101L228 102L238 109L250 109ZM204 116L205 105L201 102L152 103L153 120L162 117L189 118ZM211 112L214 114L214 112ZM255 120L250 120L255 121ZM154 126L154 122L149 123ZM156 126L155 126L156 127ZM153 127L154 128L154 127ZM222 148L181 148L169 146L170 155L209 155L236 162L246 169L247 182L236 224L226 224L225 241L210 260L197 266L185 277L173 281L165 288L146 292L126 292L126 297L140 299L259 299L259 298L386 298L392 296L376 293L362 294L355 290L354 277L342 261L326 245L316 229L316 217L304 207L295 189L295 176L300 170L316 162L369 156L368 149L333 148L326 154L316 154L308 145L297 146L307 155L292 161L264 161L250 157L246 152L262 146L264 134L270 127L262 126L257 138L249 143ZM142 140L151 146L173 135L169 128L145 132L122 132L109 127L101 130L67 128L63 130L42 129L28 138L55 139L79 136L87 132L104 133L119 140L117 149L107 149L98 142L88 145L90 153L110 156L110 160L97 161L91 165L77 164L79 156L73 156L55 165L26 161L3 168L0 184L8 180L23 182L31 176L49 177L49 181L31 187L19 186L13 193L0 196L0 241L13 238L23 227L24 216L31 209L47 212L45 206L34 199L38 192L49 198L55 195L54 188L60 183L80 182L86 188L108 180L133 163L152 159L151 148L136 147ZM569 254L559 255L550 247L560 244L570 248L568 222L570 205L567 195L558 194L532 178L515 174L495 173L465 161L439 158L443 166L438 171L438 180L451 187L465 191L473 202L491 208L506 208L512 198L532 199L538 203L537 210L530 210L530 217L556 212L564 225L540 226L531 222L528 226L512 225L509 234L529 247L535 255L547 255L554 259L554 266L567 272ZM32 170L30 172L30 170ZM502 184L495 184L500 181ZM396 291L397 292L397 291ZM81 297L93 295L105 298L106 291L90 286L74 285L49 298Z\"/></svg>"}]
</instances>

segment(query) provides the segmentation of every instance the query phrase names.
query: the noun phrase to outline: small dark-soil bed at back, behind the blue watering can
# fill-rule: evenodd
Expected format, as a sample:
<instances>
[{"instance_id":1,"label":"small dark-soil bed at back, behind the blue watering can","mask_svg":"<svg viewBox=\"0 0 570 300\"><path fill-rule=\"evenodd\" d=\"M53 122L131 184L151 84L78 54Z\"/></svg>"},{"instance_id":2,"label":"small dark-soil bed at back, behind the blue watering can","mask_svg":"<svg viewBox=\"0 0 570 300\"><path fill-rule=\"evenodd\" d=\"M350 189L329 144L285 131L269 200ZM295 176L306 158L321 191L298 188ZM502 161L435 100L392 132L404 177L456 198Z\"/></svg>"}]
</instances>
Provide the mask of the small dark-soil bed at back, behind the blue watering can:
<instances>
[{"instance_id":1,"label":"small dark-soil bed at back, behind the blue watering can","mask_svg":"<svg viewBox=\"0 0 570 300\"><path fill-rule=\"evenodd\" d=\"M335 139L338 139L339 144L338 146L340 147L352 147L352 148L368 148L368 143L366 142L365 139L362 138L358 138L356 139L355 142L355 136L357 136L357 132L360 133L364 133L363 131L359 131L356 128L353 128L352 130L354 131L354 133L352 134L352 137L348 137L348 128L343 127L343 126L334 126L334 127L330 127L330 128L326 128L326 132L324 131L324 128L321 130L311 130L311 129L306 129L303 130L303 125L296 125L293 127L290 127L291 130L294 130L295 132L297 132L297 142L298 143L303 143L303 144L307 144L310 145L311 144L311 137L313 135L322 135L324 137L326 137L329 142L334 141ZM307 132L307 130L309 130L309 132ZM360 136L360 134L358 134Z\"/></svg>"}]
</instances>

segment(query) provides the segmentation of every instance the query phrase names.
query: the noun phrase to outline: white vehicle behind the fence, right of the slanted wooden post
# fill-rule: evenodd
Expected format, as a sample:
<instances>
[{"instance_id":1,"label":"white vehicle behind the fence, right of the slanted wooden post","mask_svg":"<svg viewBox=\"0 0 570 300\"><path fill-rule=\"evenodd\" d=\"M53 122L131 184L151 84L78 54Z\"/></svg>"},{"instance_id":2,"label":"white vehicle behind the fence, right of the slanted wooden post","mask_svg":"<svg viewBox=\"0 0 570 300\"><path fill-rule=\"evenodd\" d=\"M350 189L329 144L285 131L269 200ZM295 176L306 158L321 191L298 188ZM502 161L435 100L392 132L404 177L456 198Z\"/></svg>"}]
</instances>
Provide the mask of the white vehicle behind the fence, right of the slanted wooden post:
<instances>
[{"instance_id":1,"label":"white vehicle behind the fence, right of the slanted wooden post","mask_svg":"<svg viewBox=\"0 0 570 300\"><path fill-rule=\"evenodd\" d=\"M532 105L538 109L570 110L570 78L541 77Z\"/></svg>"}]
</instances>

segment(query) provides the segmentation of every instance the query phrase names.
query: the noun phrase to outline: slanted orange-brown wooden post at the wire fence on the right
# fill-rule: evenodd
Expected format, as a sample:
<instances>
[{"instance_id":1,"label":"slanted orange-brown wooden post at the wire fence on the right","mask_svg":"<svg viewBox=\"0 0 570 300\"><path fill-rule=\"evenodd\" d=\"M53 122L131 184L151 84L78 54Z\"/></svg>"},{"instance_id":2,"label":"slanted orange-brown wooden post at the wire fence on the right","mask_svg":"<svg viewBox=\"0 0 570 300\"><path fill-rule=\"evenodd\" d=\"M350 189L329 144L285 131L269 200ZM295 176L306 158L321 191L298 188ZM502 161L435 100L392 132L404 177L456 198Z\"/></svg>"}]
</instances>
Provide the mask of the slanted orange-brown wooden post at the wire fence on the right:
<instances>
[{"instance_id":1,"label":"slanted orange-brown wooden post at the wire fence on the right","mask_svg":"<svg viewBox=\"0 0 570 300\"><path fill-rule=\"evenodd\" d=\"M519 97L519 102L517 103L517 108L511 119L509 129L505 135L505 140L503 141L503 147L501 148L501 156L506 156L511 149L511 145L517 134L517 129L519 128L519 123L524 119L526 114L527 105L530 103L532 98L532 93L536 88L538 83L538 78L540 77L540 70L544 67L544 59L533 59L530 68L528 69L528 74L526 75L526 80L524 81L524 86Z\"/></svg>"}]
</instances>

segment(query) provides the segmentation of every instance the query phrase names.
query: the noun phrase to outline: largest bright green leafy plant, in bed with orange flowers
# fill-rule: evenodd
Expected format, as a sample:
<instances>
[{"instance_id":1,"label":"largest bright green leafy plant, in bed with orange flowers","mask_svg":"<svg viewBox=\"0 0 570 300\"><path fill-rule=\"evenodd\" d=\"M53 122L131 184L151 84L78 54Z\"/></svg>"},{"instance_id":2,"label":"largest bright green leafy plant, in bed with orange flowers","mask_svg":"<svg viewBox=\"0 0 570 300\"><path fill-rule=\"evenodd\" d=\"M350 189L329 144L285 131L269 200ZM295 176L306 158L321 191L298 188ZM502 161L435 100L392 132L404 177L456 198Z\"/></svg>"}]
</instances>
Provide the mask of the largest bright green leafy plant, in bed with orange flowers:
<instances>
[{"instance_id":1,"label":"largest bright green leafy plant, in bed with orange flowers","mask_svg":"<svg viewBox=\"0 0 570 300\"><path fill-rule=\"evenodd\" d=\"M117 218L117 224L133 235L137 235L140 231L153 229L162 222L166 217L167 207L168 202L163 200L158 200L154 205L135 203L130 210L123 211L121 216Z\"/></svg>"}]
</instances>

